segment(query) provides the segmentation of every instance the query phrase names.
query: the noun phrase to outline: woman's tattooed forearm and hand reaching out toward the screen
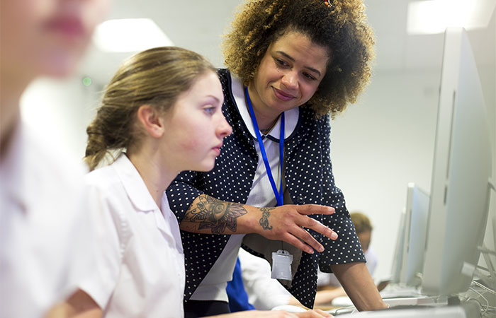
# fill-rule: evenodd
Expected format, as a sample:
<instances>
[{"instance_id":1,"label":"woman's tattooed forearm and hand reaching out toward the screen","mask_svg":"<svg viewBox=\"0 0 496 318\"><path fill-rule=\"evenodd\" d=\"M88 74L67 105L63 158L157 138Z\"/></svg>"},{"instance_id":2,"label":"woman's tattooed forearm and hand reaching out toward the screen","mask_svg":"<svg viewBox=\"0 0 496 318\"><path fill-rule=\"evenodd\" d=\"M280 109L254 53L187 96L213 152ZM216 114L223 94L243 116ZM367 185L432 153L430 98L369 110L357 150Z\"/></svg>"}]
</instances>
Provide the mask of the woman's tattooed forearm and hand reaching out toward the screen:
<instances>
[{"instance_id":1,"label":"woman's tattooed forearm and hand reaching out toward the screen","mask_svg":"<svg viewBox=\"0 0 496 318\"><path fill-rule=\"evenodd\" d=\"M283 240L311 254L313 249L322 252L324 248L302 227L315 230L332 240L337 238L334 231L307 216L315 213L332 214L334 208L316 204L257 208L201 194L184 213L180 228L205 234L257 233L269 240Z\"/></svg>"}]
</instances>

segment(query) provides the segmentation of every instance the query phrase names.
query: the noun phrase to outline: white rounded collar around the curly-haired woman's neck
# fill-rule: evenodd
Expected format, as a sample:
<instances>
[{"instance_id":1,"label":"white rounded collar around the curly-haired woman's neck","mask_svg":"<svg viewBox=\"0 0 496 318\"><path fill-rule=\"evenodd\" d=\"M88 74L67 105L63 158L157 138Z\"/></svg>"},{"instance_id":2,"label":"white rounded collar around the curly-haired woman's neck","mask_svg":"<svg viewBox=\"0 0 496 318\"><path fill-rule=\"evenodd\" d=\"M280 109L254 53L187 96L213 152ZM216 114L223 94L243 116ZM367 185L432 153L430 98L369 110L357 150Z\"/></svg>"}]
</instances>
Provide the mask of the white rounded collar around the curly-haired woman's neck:
<instances>
[{"instance_id":1,"label":"white rounded collar around the curly-haired woman's neck","mask_svg":"<svg viewBox=\"0 0 496 318\"><path fill-rule=\"evenodd\" d=\"M235 99L235 105L237 107L237 110L241 115L241 118L243 119L244 122L244 126L247 127L249 134L252 135L254 139L257 139L257 134L255 134L255 129L253 128L252 118L249 116L247 103L246 100L244 99L244 88L242 82L239 80L239 78L232 75L232 73L230 73L230 76L232 83L231 84L232 97L234 97ZM284 121L285 121L284 140L287 140L291 136L291 134L293 134L293 131L295 131L295 128L298 124L299 116L300 116L300 107L295 107L292 110L286 110L286 112L284 112ZM279 117L276 124L274 125L274 128L266 136L272 141L278 142L280 133L281 133L281 117ZM262 135L262 139L263 138L264 136Z\"/></svg>"}]
</instances>

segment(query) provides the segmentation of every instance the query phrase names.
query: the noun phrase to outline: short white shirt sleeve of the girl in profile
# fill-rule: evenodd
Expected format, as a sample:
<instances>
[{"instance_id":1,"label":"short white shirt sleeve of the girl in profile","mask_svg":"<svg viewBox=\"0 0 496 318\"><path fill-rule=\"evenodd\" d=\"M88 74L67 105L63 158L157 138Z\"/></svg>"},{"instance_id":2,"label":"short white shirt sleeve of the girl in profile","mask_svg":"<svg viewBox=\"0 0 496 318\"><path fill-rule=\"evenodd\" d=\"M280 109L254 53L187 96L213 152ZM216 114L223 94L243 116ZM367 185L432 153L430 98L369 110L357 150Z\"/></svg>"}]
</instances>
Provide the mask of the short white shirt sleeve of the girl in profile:
<instances>
[{"instance_id":1,"label":"short white shirt sleeve of the girl in profile","mask_svg":"<svg viewBox=\"0 0 496 318\"><path fill-rule=\"evenodd\" d=\"M120 208L122 202L96 186L89 185L86 190L88 213L94 230L94 249L89 255L92 259L91 275L79 284L79 288L103 309L117 284L130 232L128 220L123 213L125 210Z\"/></svg>"}]
</instances>

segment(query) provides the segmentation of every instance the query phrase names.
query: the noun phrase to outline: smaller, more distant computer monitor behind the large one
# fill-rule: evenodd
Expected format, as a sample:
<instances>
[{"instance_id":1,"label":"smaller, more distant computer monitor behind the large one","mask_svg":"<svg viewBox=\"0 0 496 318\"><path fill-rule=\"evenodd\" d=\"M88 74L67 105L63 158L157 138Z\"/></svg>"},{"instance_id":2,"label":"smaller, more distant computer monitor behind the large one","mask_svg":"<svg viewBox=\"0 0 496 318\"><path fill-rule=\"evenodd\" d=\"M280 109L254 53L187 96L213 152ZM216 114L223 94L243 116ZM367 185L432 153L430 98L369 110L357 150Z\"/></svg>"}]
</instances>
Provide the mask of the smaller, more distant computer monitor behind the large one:
<instances>
[{"instance_id":1,"label":"smaller, more distant computer monitor behind the large one","mask_svg":"<svg viewBox=\"0 0 496 318\"><path fill-rule=\"evenodd\" d=\"M422 283L424 252L429 219L429 194L410 182L405 208L405 240L400 271L400 284L418 287Z\"/></svg>"}]
</instances>

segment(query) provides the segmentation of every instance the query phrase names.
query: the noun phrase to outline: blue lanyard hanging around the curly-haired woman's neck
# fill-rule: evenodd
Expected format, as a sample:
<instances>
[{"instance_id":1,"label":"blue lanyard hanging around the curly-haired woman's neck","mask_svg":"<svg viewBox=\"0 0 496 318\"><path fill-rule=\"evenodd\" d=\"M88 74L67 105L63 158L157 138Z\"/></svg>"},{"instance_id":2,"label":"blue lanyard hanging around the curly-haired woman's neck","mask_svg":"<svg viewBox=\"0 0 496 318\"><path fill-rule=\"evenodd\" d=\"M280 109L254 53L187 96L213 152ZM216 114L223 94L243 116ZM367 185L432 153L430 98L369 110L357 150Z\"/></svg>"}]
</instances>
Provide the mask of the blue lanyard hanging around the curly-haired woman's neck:
<instances>
[{"instance_id":1,"label":"blue lanyard hanging around the curly-haired woman's neck","mask_svg":"<svg viewBox=\"0 0 496 318\"><path fill-rule=\"evenodd\" d=\"M281 134L279 134L279 163L281 165L281 185L280 190L277 191L276 182L272 176L271 166L269 165L269 160L267 159L267 154L265 152L264 143L261 141L259 125L257 124L257 118L255 118L255 113L253 112L252 101L249 99L248 88L244 88L244 93L247 97L247 104L250 117L252 117L253 128L255 129L255 134L257 134L257 141L259 142L261 157L264 159L265 169L267 171L267 177L271 182L272 191L277 199L277 205L282 206L283 202L283 154L284 154L284 112L281 114Z\"/></svg>"}]
</instances>

